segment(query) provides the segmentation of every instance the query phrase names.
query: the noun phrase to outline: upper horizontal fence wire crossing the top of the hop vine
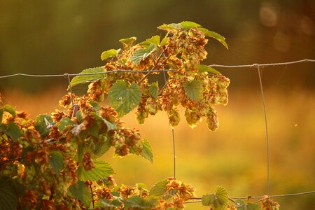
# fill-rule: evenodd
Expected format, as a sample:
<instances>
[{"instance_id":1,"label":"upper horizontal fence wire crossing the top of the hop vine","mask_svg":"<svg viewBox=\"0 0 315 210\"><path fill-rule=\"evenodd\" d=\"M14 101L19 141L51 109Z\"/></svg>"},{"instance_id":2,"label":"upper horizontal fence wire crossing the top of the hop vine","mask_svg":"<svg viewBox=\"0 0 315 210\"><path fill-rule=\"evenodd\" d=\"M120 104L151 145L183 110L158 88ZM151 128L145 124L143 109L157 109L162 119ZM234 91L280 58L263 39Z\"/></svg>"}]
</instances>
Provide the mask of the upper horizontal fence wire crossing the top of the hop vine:
<instances>
[{"instance_id":1,"label":"upper horizontal fence wire crossing the top of the hop vine","mask_svg":"<svg viewBox=\"0 0 315 210\"><path fill-rule=\"evenodd\" d=\"M297 64L302 62L315 62L315 59L300 59L293 62L281 62L281 63L270 63L270 64L246 64L246 65L221 65L221 64L211 64L209 67L221 67L221 68L244 68L244 67L257 67L257 66L281 66L289 64ZM104 66L101 66L104 67ZM96 72L96 73L62 73L62 74L28 74L28 73L14 73L5 76L0 76L0 78L8 78L13 76L29 76L29 77L67 77L67 76L89 76L97 75L104 73L113 73L113 72L137 72L137 73L148 73L148 72L163 72L163 71L175 71L175 69L160 69L160 70L146 70L146 71L137 71L137 70L125 70L125 69L115 69L105 72Z\"/></svg>"}]
</instances>

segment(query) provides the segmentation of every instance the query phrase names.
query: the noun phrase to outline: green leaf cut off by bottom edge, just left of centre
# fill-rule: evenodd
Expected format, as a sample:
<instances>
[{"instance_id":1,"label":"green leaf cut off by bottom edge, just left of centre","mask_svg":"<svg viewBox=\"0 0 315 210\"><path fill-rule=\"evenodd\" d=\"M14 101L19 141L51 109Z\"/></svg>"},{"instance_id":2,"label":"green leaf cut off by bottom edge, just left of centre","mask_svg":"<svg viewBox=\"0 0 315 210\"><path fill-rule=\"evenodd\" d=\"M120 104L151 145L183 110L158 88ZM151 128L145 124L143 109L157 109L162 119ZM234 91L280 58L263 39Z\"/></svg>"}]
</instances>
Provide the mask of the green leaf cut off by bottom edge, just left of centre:
<instances>
[{"instance_id":1,"label":"green leaf cut off by bottom edge, just left of centre","mask_svg":"<svg viewBox=\"0 0 315 210\"><path fill-rule=\"evenodd\" d=\"M125 202L125 209L135 208L135 209L153 209L158 205L158 200L145 200L144 198L134 195L128 198Z\"/></svg>"}]
</instances>

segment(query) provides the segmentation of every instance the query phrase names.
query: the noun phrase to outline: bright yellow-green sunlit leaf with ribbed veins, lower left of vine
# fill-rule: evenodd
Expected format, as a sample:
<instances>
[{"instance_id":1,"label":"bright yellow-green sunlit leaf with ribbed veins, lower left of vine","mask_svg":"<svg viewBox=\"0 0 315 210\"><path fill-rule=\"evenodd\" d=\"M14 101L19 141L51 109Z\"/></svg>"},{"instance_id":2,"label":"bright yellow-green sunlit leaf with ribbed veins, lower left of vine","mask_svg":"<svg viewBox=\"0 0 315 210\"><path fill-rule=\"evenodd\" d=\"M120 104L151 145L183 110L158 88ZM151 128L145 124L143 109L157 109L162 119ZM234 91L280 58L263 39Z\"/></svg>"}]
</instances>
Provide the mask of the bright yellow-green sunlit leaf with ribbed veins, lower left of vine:
<instances>
[{"instance_id":1,"label":"bright yellow-green sunlit leaf with ribbed veins, lower left of vine","mask_svg":"<svg viewBox=\"0 0 315 210\"><path fill-rule=\"evenodd\" d=\"M85 171L84 167L80 165L76 171L78 179L82 181L97 181L113 174L113 169L107 162L94 160L94 166L95 167L92 170Z\"/></svg>"}]
</instances>

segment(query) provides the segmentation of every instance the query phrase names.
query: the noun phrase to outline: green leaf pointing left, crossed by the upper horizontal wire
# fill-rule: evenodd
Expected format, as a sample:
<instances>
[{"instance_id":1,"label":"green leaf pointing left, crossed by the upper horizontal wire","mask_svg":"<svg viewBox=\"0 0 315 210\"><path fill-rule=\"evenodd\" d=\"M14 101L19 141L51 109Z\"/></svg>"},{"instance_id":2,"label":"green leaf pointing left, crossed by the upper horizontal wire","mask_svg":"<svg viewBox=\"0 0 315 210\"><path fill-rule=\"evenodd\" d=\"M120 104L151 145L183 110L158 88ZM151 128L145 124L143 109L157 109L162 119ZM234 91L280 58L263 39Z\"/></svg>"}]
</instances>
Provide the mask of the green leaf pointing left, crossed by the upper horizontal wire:
<instances>
[{"instance_id":1,"label":"green leaf pointing left, crossed by the upper horizontal wire","mask_svg":"<svg viewBox=\"0 0 315 210\"><path fill-rule=\"evenodd\" d=\"M94 81L94 80L102 80L105 78L104 72L105 72L104 66L84 69L83 71L79 73L82 75L78 75L72 78L70 82L70 86L73 87L82 83L90 83L91 81ZM89 74L89 73L98 73L98 74ZM88 75L84 75L84 74L88 74Z\"/></svg>"}]
</instances>

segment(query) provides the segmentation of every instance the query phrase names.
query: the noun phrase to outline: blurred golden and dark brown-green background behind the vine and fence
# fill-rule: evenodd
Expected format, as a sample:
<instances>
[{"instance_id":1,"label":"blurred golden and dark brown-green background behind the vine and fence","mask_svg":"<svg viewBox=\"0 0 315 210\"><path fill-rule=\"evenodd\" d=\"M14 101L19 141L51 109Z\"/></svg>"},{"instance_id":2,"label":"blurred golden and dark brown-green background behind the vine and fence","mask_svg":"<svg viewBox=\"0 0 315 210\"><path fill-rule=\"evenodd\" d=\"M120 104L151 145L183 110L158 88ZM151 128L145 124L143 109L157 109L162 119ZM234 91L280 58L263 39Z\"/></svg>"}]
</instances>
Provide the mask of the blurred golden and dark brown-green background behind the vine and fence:
<instances>
[{"instance_id":1,"label":"blurred golden and dark brown-green background behind the vine and fence","mask_svg":"<svg viewBox=\"0 0 315 210\"><path fill-rule=\"evenodd\" d=\"M12 73L78 73L102 66L102 51L118 40L143 41L160 34L163 23L189 20L226 37L230 47L209 41L203 64L253 64L315 59L315 1L5 1L0 0L0 76ZM315 189L315 64L262 68L270 147L270 195ZM266 193L266 143L258 73L253 68L218 69L228 76L230 103L218 107L221 127L209 132L203 121L175 129L176 176L197 195L225 187L231 196ZM3 101L32 118L57 109L66 78L0 79ZM75 92L82 92L74 88ZM182 115L183 118L183 115ZM133 185L172 176L172 130L165 113L137 125L153 146L154 163L128 156L104 160L116 182ZM126 175L127 174L127 175ZM312 209L315 195L275 199L281 209ZM202 209L187 204L187 209Z\"/></svg>"}]
</instances>

